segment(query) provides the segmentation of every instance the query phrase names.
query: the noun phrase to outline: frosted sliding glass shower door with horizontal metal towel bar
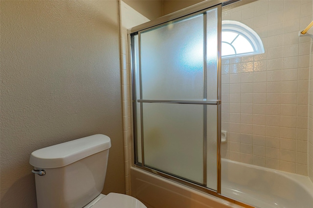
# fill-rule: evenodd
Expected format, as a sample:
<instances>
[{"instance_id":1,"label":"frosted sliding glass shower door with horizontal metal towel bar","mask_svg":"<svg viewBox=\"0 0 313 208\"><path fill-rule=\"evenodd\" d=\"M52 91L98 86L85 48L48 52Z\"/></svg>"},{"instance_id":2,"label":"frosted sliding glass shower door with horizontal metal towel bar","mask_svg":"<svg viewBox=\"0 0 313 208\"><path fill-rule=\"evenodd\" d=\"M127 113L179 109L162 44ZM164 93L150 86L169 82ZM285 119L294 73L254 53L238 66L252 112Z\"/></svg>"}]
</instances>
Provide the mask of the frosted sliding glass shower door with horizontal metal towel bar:
<instances>
[{"instance_id":1,"label":"frosted sliding glass shower door with horizontal metal towel bar","mask_svg":"<svg viewBox=\"0 0 313 208\"><path fill-rule=\"evenodd\" d=\"M135 164L218 190L221 6L131 34Z\"/></svg>"}]
</instances>

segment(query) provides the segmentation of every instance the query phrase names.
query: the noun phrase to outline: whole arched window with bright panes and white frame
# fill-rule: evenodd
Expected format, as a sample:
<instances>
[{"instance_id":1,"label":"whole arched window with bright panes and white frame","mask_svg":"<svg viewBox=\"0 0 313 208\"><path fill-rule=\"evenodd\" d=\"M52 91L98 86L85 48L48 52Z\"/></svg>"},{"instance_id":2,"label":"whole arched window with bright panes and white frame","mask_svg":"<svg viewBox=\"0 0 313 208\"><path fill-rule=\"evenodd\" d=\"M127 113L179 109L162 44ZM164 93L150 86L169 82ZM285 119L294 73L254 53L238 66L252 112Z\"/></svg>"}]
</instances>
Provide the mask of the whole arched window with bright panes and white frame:
<instances>
[{"instance_id":1,"label":"whole arched window with bright panes and white frame","mask_svg":"<svg viewBox=\"0 0 313 208\"><path fill-rule=\"evenodd\" d=\"M262 40L254 30L238 21L222 21L222 58L263 53Z\"/></svg>"}]
</instances>

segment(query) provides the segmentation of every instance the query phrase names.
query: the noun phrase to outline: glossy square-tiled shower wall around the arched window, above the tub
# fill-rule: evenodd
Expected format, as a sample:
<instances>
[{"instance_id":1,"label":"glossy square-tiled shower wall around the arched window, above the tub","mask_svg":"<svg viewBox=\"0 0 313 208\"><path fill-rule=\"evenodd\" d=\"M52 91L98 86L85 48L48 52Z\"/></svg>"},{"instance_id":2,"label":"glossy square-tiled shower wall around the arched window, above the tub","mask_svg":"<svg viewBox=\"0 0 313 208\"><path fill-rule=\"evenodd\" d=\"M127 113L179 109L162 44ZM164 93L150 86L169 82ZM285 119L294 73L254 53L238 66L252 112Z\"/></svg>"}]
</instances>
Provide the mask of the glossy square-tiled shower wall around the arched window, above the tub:
<instances>
[{"instance_id":1,"label":"glossy square-tiled shower wall around the arched window, above the tub","mask_svg":"<svg viewBox=\"0 0 313 208\"><path fill-rule=\"evenodd\" d=\"M298 37L312 20L312 1L247 5L222 19L250 26L266 53L222 60L223 155L313 179L313 50L310 38Z\"/></svg>"}]
</instances>

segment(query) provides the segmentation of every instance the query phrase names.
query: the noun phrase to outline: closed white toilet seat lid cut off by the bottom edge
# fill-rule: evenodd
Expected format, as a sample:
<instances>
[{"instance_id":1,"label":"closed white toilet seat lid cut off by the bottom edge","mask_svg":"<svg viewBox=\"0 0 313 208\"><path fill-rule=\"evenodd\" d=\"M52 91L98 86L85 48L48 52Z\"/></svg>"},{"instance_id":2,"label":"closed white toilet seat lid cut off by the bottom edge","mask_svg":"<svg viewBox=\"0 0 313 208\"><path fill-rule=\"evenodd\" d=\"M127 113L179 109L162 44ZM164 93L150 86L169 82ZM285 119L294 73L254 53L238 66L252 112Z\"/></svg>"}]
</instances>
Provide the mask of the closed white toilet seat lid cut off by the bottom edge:
<instances>
[{"instance_id":1,"label":"closed white toilet seat lid cut off by the bottom edge","mask_svg":"<svg viewBox=\"0 0 313 208\"><path fill-rule=\"evenodd\" d=\"M95 203L92 208L147 208L138 199L120 193L109 193L97 203Z\"/></svg>"}]
</instances>

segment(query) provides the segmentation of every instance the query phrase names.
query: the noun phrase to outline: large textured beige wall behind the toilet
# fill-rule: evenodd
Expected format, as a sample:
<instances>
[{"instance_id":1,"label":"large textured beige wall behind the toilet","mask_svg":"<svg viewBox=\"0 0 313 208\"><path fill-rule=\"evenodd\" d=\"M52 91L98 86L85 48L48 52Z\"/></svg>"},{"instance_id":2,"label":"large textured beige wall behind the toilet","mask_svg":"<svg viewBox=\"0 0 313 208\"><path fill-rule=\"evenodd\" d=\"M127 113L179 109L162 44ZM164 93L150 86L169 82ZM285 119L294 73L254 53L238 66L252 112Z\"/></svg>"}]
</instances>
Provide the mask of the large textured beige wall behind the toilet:
<instances>
[{"instance_id":1,"label":"large textured beige wall behind the toilet","mask_svg":"<svg viewBox=\"0 0 313 208\"><path fill-rule=\"evenodd\" d=\"M0 207L37 207L32 151L95 133L112 139L103 193L124 193L118 2L0 8Z\"/></svg>"}]
</instances>

